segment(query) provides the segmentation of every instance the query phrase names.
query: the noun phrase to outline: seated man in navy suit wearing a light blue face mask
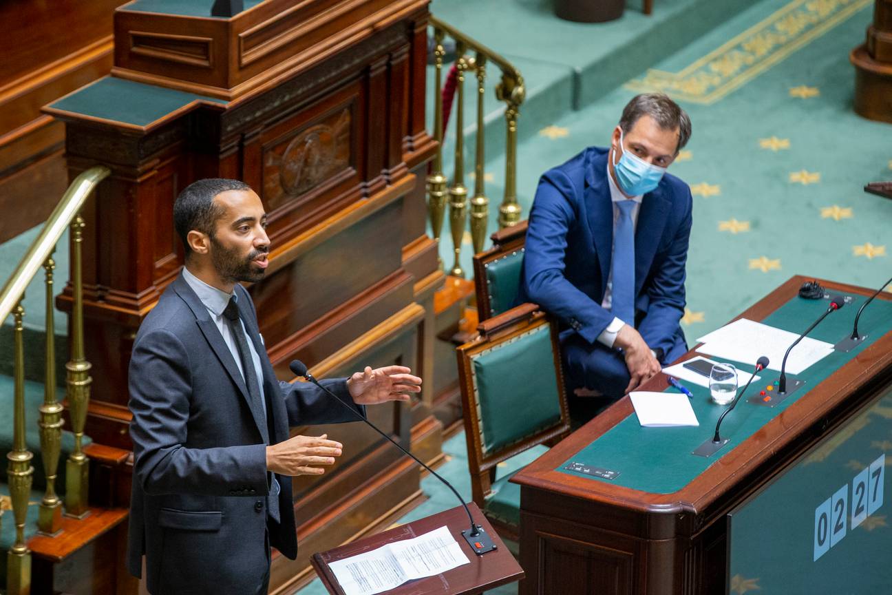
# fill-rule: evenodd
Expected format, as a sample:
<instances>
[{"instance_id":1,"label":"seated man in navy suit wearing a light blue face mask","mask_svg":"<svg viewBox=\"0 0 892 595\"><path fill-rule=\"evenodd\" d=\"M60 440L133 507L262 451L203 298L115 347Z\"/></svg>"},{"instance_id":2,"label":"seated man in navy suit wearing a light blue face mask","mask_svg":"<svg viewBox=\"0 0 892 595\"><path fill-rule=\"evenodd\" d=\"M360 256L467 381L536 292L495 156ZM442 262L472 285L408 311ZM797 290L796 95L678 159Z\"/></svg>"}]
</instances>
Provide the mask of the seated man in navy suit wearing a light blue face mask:
<instances>
[{"instance_id":1,"label":"seated man in navy suit wearing a light blue face mask","mask_svg":"<svg viewBox=\"0 0 892 595\"><path fill-rule=\"evenodd\" d=\"M618 398L687 351L690 188L665 173L690 118L663 94L637 95L608 148L541 177L520 299L558 317L568 385Z\"/></svg>"}]
</instances>

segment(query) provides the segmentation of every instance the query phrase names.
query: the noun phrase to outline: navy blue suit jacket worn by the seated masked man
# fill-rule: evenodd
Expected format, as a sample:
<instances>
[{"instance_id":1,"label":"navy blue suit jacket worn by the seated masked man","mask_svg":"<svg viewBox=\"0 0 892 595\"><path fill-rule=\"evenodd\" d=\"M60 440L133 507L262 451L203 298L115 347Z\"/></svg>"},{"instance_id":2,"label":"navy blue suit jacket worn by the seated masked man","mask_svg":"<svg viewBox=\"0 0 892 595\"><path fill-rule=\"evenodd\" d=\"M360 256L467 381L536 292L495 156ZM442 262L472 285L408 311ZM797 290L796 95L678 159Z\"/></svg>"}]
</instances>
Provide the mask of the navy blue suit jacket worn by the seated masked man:
<instances>
[{"instance_id":1,"label":"navy blue suit jacket worn by the seated masked man","mask_svg":"<svg viewBox=\"0 0 892 595\"><path fill-rule=\"evenodd\" d=\"M540 304L588 343L614 318L601 307L613 252L607 155L607 149L589 147L542 175L521 276L520 299ZM684 345L679 321L691 207L688 185L665 174L644 195L635 231L636 327L651 349L666 356L680 354Z\"/></svg>"}]
</instances>

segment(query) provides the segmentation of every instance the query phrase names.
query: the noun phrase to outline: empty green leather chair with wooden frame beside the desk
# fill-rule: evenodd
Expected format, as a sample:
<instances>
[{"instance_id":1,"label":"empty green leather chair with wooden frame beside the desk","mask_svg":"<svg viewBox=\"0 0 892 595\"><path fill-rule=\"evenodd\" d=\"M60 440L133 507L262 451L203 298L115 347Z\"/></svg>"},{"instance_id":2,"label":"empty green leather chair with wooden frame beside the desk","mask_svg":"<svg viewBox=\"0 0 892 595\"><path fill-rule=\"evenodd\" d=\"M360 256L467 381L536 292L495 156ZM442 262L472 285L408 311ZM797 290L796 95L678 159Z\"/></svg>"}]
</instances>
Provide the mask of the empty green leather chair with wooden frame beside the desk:
<instances>
[{"instance_id":1,"label":"empty green leather chair with wooden frame beside the desk","mask_svg":"<svg viewBox=\"0 0 892 595\"><path fill-rule=\"evenodd\" d=\"M570 430L558 329L535 304L478 326L458 347L467 465L475 503L500 536L517 541L520 486L496 476L499 463Z\"/></svg>"}]
</instances>

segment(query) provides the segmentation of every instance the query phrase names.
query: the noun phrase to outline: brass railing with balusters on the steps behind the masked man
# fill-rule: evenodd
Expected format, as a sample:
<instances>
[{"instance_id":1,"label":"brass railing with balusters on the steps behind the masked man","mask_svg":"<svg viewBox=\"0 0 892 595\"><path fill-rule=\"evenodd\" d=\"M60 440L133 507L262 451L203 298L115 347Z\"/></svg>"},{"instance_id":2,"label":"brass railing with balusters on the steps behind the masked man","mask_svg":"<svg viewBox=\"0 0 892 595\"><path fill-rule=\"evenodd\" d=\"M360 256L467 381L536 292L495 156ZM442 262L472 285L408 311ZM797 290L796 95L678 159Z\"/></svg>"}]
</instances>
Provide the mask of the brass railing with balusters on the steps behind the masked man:
<instances>
[{"instance_id":1,"label":"brass railing with balusters on the steps behind the masked man","mask_svg":"<svg viewBox=\"0 0 892 595\"><path fill-rule=\"evenodd\" d=\"M434 28L434 137L440 144L440 148L434 156L431 174L427 177L427 206L434 239L439 243L448 194L450 235L452 236L452 247L455 254L455 262L452 265L452 269L450 269L450 275L465 277L465 271L461 269L459 261L462 239L465 235L468 206L467 187L465 186L465 77L467 73L474 73L477 83L474 195L470 199L470 230L475 253L483 250L483 242L486 239L486 223L490 214L489 199L485 194L483 163L483 145L485 140L483 96L486 93L484 87L486 65L489 62L499 67L501 79L499 84L496 85L495 93L496 97L506 104L505 194L499 207L499 227L512 226L520 221L520 205L517 204L516 192L517 117L520 114L520 104L524 103L524 78L511 62L508 62L485 45L467 37L461 31L439 19L431 17L430 23ZM448 183L447 178L443 175L442 161L442 70L446 54L443 41L446 36L454 39L456 43L456 95L455 101L452 103L454 106L453 111L455 112L455 166L451 184Z\"/></svg>"}]
</instances>

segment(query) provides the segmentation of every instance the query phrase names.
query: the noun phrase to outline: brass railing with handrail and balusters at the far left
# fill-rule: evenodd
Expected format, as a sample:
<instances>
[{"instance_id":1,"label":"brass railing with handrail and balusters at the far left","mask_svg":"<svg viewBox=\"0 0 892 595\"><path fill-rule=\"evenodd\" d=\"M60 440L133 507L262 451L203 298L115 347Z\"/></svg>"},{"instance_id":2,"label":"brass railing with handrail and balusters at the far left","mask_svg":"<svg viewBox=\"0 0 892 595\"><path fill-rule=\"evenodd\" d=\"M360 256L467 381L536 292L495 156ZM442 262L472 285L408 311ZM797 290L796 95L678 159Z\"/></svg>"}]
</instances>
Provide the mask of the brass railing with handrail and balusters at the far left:
<instances>
[{"instance_id":1,"label":"brass railing with handrail and balusters at the far left","mask_svg":"<svg viewBox=\"0 0 892 595\"><path fill-rule=\"evenodd\" d=\"M87 514L87 456L81 448L87 404L90 398L90 364L84 357L83 281L81 273L81 242L84 220L80 209L95 186L111 173L97 166L87 169L71 183L46 220L40 235L29 246L19 266L0 292L0 325L13 316L15 341L13 363L13 428L12 451L7 455L9 492L12 517L15 522L15 543L6 558L6 593L28 593L31 581L31 554L25 543L25 516L31 490L34 455L25 443L25 351L21 305L25 288L41 268L45 271L46 288L46 356L44 403L39 408L37 425L40 427L40 451L44 461L46 490L40 502L37 528L41 533L58 533L62 525L62 502L55 493L56 470L62 450L62 404L56 399L54 314L53 314L53 253L67 227L71 229L71 274L73 303L71 310L71 359L68 370L66 398L71 416L71 431L75 436L74 451L66 463L65 514L82 517Z\"/></svg>"}]
</instances>

